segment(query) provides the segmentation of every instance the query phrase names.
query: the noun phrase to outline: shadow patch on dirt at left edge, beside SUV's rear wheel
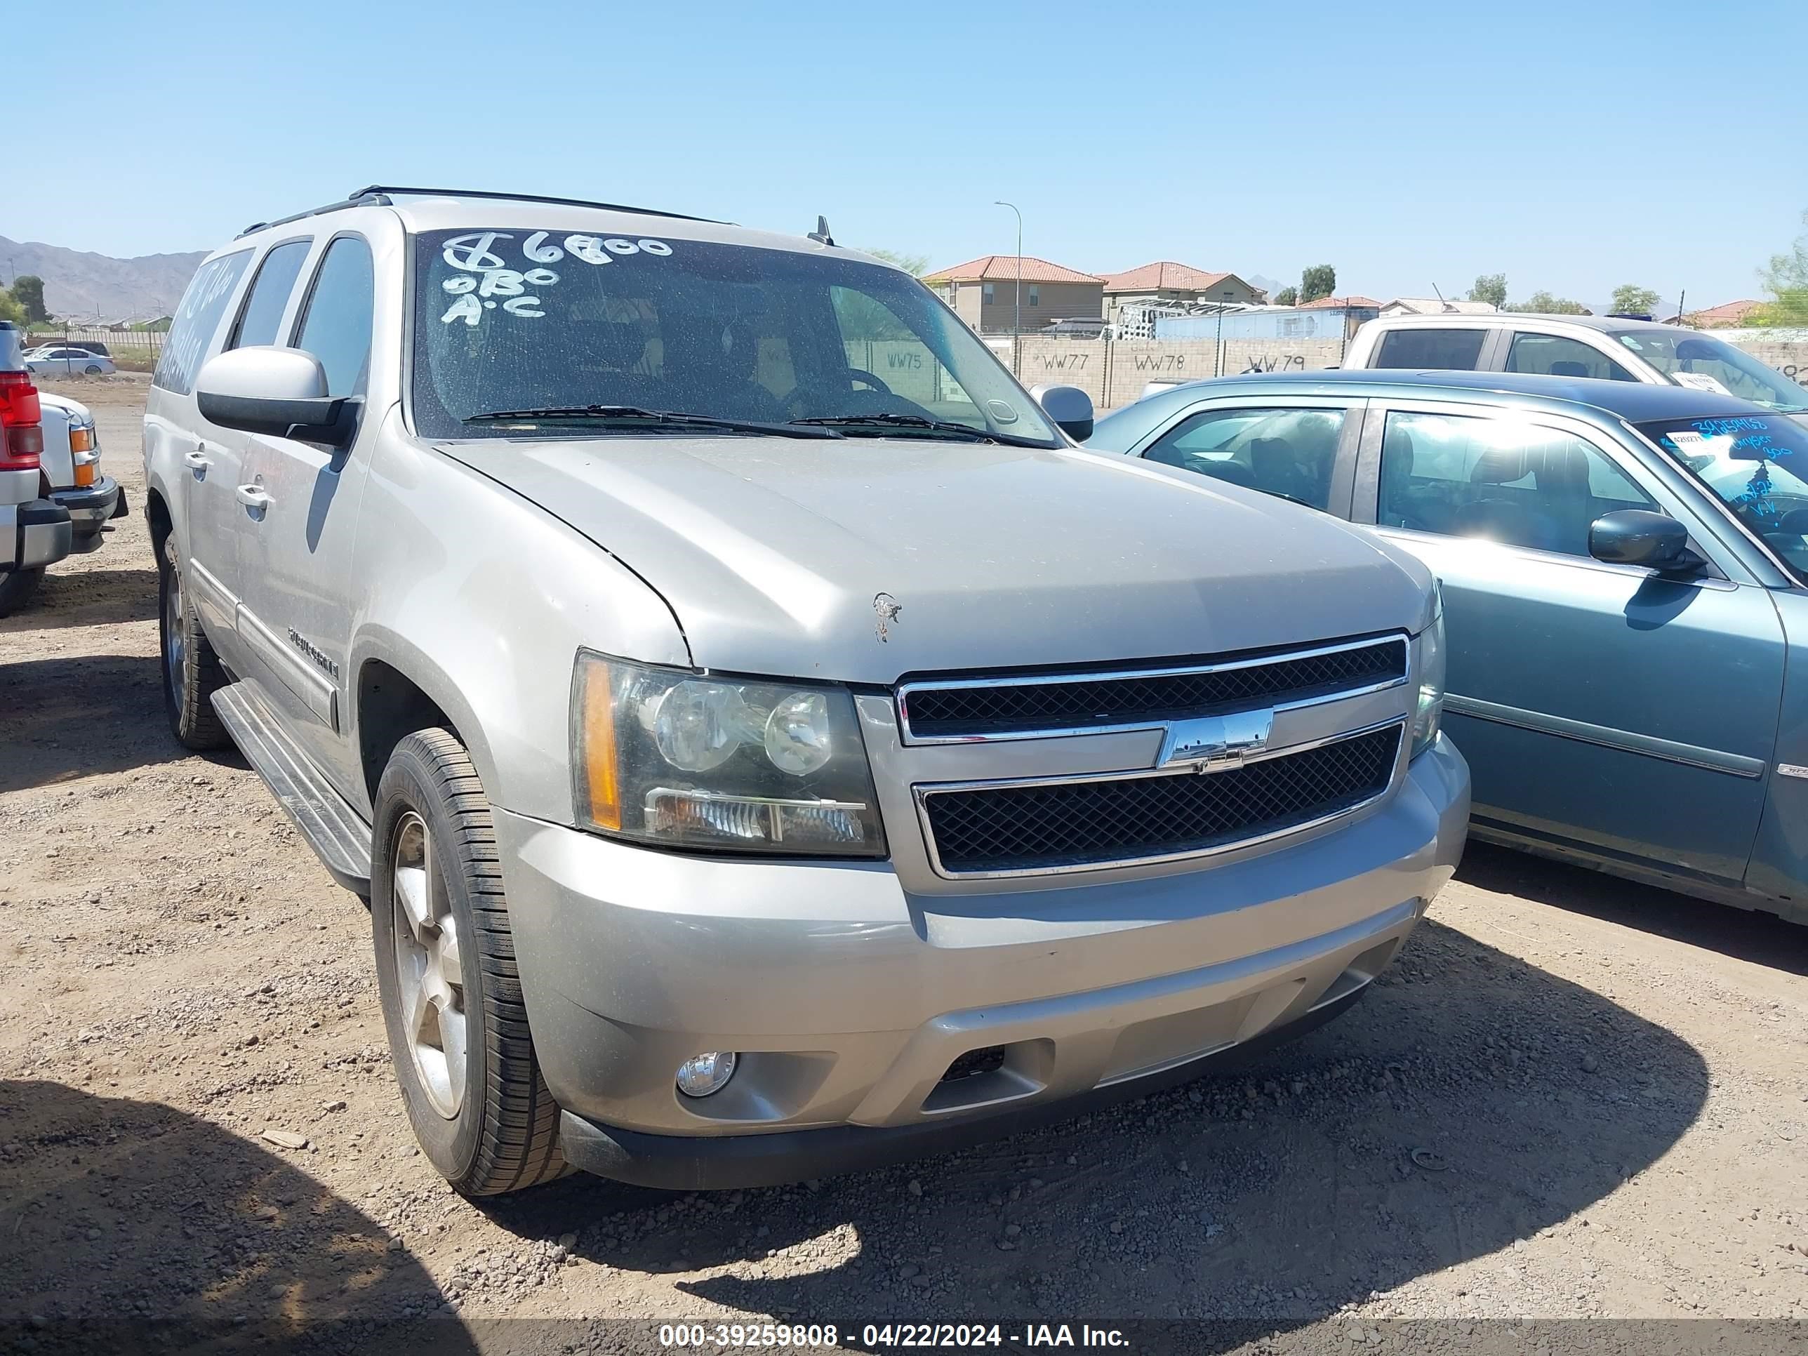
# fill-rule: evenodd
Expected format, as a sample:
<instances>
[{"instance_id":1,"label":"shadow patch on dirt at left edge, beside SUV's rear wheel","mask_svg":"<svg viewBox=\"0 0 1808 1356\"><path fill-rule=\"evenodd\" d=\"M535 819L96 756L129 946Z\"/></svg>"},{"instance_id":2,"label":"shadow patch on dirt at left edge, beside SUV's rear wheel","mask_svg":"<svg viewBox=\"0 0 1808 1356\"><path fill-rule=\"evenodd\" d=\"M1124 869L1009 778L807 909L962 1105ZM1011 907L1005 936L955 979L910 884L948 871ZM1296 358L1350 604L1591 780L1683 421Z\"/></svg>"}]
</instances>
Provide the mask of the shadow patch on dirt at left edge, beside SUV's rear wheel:
<instances>
[{"instance_id":1,"label":"shadow patch on dirt at left edge, beside SUV's rear wheel","mask_svg":"<svg viewBox=\"0 0 1808 1356\"><path fill-rule=\"evenodd\" d=\"M0 660L0 792L188 756L170 738L157 660L132 654Z\"/></svg>"}]
</instances>

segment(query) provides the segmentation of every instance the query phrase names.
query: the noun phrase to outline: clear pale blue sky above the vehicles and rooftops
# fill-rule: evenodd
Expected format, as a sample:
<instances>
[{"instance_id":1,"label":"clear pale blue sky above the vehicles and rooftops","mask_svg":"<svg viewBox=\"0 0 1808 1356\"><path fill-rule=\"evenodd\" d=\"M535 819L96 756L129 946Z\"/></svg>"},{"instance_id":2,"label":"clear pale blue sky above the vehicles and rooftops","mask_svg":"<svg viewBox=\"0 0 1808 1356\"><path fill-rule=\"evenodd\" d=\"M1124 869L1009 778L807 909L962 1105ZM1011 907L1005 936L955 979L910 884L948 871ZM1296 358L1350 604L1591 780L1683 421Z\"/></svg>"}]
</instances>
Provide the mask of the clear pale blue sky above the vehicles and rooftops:
<instances>
[{"instance_id":1,"label":"clear pale blue sky above the vehicles and rooftops","mask_svg":"<svg viewBox=\"0 0 1808 1356\"><path fill-rule=\"evenodd\" d=\"M1011 199L1025 253L1088 271L1707 306L1757 295L1808 208L1803 0L92 0L5 27L105 130L36 108L0 235L110 255L381 181L821 212L946 266L1016 248Z\"/></svg>"}]
</instances>

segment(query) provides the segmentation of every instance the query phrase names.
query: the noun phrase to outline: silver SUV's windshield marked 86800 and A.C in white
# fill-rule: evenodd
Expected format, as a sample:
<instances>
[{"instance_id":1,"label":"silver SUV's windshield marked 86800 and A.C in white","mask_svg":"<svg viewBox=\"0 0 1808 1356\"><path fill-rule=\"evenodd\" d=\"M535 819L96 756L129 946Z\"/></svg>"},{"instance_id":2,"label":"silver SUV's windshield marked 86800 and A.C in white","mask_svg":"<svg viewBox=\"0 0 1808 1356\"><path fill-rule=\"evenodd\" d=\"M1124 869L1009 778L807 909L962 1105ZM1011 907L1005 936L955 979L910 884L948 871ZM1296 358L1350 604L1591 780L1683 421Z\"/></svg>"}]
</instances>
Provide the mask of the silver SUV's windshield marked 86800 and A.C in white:
<instances>
[{"instance_id":1,"label":"silver SUV's windshield marked 86800 and A.C in white","mask_svg":"<svg viewBox=\"0 0 1808 1356\"><path fill-rule=\"evenodd\" d=\"M978 336L879 264L682 239L423 231L414 307L414 423L427 438L519 436L526 414L472 419L526 410L566 410L544 427L588 436L586 423L683 428L579 412L600 405L1059 445ZM861 418L879 421L843 423Z\"/></svg>"}]
</instances>

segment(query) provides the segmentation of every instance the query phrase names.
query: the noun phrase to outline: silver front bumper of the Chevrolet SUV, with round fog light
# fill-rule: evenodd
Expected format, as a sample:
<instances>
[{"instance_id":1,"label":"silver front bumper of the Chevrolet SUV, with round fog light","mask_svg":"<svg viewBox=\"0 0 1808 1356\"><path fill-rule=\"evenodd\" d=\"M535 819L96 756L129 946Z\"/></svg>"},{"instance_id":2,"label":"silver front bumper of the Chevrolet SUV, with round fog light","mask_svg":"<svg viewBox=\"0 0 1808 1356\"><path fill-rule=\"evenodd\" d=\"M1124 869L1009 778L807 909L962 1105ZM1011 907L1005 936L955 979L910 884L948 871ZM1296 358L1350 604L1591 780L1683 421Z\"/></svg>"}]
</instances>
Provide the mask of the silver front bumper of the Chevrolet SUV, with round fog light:
<instances>
[{"instance_id":1,"label":"silver front bumper of the Chevrolet SUV, with round fog light","mask_svg":"<svg viewBox=\"0 0 1808 1356\"><path fill-rule=\"evenodd\" d=\"M692 857L495 817L573 1163L721 1186L1128 1096L1336 1011L1455 870L1468 767L1439 739L1396 794L1329 832L998 893L911 893L890 862ZM702 1050L741 1061L689 1099L674 1072ZM949 1078L976 1050L978 1072ZM765 1135L781 1139L736 1143Z\"/></svg>"}]
</instances>

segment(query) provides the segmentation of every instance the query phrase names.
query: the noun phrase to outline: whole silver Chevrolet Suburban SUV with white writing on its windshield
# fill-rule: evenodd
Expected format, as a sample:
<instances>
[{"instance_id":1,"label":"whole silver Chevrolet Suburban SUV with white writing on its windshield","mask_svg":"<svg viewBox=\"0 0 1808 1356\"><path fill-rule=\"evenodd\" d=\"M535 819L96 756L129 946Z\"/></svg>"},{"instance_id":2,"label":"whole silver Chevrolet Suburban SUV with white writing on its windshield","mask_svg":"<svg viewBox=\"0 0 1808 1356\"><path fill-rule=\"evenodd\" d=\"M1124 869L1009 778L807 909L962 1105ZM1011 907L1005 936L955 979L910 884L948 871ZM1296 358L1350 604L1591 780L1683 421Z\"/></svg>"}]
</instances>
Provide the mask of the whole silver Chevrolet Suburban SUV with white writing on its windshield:
<instances>
[{"instance_id":1,"label":"whole silver Chevrolet Suburban SUV with white writing on its windshield","mask_svg":"<svg viewBox=\"0 0 1808 1356\"><path fill-rule=\"evenodd\" d=\"M1434 580L1090 418L821 221L369 188L201 266L170 723L369 899L457 1190L1003 1134L1389 964L1468 819Z\"/></svg>"}]
</instances>

